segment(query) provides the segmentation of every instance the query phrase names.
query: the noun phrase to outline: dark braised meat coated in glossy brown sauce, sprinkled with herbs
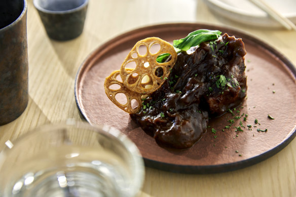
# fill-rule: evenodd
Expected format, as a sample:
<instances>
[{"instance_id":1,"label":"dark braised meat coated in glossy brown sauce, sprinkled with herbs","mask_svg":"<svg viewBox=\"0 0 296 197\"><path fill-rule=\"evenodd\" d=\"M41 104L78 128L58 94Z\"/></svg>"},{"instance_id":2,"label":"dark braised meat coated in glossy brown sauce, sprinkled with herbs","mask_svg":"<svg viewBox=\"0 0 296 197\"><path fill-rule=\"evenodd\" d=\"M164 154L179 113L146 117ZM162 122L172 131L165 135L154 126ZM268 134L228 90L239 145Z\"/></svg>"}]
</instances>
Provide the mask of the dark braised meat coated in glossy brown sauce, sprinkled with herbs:
<instances>
[{"instance_id":1,"label":"dark braised meat coated in glossy brown sauce, sprinkled with herbs","mask_svg":"<svg viewBox=\"0 0 296 197\"><path fill-rule=\"evenodd\" d=\"M241 104L246 96L244 44L227 34L178 54L160 89L130 114L158 143L189 148L206 132L209 116Z\"/></svg>"}]
</instances>

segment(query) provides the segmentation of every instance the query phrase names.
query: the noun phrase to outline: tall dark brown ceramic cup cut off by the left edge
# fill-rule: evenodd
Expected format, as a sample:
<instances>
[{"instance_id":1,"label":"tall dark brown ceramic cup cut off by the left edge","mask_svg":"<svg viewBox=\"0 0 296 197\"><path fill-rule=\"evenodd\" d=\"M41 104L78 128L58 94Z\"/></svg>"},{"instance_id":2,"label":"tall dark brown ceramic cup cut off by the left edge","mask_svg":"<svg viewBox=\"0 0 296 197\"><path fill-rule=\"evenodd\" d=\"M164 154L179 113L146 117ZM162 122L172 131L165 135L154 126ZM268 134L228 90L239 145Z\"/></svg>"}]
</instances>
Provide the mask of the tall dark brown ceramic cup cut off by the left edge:
<instances>
[{"instance_id":1,"label":"tall dark brown ceramic cup cut off by the left edge","mask_svg":"<svg viewBox=\"0 0 296 197\"><path fill-rule=\"evenodd\" d=\"M28 104L26 0L0 1L0 125Z\"/></svg>"}]
</instances>

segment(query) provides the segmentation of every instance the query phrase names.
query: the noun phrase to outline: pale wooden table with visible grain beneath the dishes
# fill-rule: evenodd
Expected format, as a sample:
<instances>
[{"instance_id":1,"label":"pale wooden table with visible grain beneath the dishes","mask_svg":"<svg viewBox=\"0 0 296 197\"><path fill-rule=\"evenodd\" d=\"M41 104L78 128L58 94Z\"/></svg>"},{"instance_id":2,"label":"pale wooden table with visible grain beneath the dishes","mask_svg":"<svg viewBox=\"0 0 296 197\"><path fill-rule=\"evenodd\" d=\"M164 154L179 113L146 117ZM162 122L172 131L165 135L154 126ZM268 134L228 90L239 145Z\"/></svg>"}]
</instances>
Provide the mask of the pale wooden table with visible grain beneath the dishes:
<instances>
[{"instance_id":1,"label":"pale wooden table with visible grain beneath the dishes","mask_svg":"<svg viewBox=\"0 0 296 197\"><path fill-rule=\"evenodd\" d=\"M68 42L49 39L32 0L28 0L29 103L16 121L0 127L0 144L45 123L69 118L81 121L73 92L83 60L123 32L168 22L239 28L269 43L296 65L296 32L232 23L215 16L202 0L90 0L83 34ZM146 168L140 196L296 196L295 154L293 140L270 159L234 172L188 175Z\"/></svg>"}]
</instances>

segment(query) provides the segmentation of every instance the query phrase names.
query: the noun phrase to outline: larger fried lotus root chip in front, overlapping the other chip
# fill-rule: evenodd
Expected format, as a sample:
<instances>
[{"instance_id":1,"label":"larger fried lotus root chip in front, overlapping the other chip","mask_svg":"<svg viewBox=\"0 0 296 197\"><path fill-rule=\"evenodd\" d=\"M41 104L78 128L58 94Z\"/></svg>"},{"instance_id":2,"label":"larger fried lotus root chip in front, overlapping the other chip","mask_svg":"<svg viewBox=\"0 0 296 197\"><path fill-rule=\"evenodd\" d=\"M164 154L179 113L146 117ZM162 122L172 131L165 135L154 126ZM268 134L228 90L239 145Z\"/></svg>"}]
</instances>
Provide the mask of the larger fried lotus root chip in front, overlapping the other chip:
<instances>
[{"instance_id":1,"label":"larger fried lotus root chip in front, overlapping the other chip","mask_svg":"<svg viewBox=\"0 0 296 197\"><path fill-rule=\"evenodd\" d=\"M160 49L153 53L157 46L160 46ZM165 53L171 55L169 60L157 62L156 58ZM130 91L150 94L161 87L176 60L177 53L171 44L158 37L148 37L137 42L129 52L121 65L120 76L124 86ZM130 65L135 65L135 68L129 69Z\"/></svg>"}]
</instances>

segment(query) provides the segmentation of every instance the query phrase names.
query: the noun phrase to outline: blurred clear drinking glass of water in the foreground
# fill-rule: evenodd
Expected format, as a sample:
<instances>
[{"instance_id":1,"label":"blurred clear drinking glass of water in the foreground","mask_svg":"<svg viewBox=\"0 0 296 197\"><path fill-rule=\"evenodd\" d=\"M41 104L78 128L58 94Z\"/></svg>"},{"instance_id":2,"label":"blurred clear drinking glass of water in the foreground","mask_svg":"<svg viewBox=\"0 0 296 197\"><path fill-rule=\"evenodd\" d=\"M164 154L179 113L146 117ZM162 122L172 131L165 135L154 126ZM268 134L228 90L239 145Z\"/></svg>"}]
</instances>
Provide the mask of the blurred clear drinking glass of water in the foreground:
<instances>
[{"instance_id":1,"label":"blurred clear drinking glass of water in the foreground","mask_svg":"<svg viewBox=\"0 0 296 197\"><path fill-rule=\"evenodd\" d=\"M86 123L45 125L6 143L0 196L136 196L144 177L135 144L120 131Z\"/></svg>"}]
</instances>

